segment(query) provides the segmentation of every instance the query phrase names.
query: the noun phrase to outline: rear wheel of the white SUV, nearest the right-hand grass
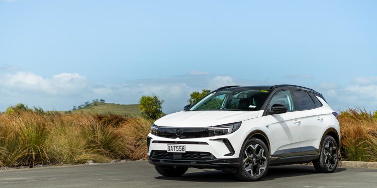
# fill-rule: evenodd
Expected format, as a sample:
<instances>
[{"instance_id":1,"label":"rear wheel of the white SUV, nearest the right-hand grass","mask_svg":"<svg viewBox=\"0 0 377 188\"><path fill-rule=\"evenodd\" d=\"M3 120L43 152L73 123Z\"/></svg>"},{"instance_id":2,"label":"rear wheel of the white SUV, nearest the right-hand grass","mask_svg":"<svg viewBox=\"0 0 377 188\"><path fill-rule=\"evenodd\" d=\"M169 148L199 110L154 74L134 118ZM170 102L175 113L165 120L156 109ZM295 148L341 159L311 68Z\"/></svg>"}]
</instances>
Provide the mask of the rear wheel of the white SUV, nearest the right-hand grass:
<instances>
[{"instance_id":1,"label":"rear wheel of the white SUV, nearest the right-hand grass","mask_svg":"<svg viewBox=\"0 0 377 188\"><path fill-rule=\"evenodd\" d=\"M332 136L325 136L321 143L321 153L313 160L314 168L320 173L332 173L338 165L338 144Z\"/></svg>"}]
</instances>

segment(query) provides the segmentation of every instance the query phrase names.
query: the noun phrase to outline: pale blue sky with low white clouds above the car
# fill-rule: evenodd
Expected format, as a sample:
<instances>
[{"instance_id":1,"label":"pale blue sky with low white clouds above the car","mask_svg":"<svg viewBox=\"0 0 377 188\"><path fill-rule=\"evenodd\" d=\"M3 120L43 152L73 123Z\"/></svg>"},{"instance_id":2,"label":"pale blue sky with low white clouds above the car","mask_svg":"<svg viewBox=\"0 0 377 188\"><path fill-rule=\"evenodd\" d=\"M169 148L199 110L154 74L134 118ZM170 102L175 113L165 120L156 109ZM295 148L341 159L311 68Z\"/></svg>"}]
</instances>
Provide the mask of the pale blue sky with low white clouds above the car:
<instances>
[{"instance_id":1,"label":"pale blue sky with low white clouds above the car","mask_svg":"<svg viewBox=\"0 0 377 188\"><path fill-rule=\"evenodd\" d=\"M0 111L274 84L377 110L377 1L0 0Z\"/></svg>"}]
</instances>

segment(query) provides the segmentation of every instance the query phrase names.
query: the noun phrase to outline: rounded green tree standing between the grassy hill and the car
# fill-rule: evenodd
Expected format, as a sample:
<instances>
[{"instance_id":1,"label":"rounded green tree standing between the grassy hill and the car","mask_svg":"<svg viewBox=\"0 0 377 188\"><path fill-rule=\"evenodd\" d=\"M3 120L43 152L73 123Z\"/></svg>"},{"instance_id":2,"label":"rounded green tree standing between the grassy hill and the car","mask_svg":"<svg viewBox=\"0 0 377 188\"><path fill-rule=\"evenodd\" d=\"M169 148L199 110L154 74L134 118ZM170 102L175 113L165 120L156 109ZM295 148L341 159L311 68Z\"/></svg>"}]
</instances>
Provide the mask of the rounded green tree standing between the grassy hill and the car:
<instances>
[{"instance_id":1,"label":"rounded green tree standing between the grassy hill and the car","mask_svg":"<svg viewBox=\"0 0 377 188\"><path fill-rule=\"evenodd\" d=\"M162 116L162 103L158 96L142 96L139 100L141 115L148 119L158 119Z\"/></svg>"}]
</instances>

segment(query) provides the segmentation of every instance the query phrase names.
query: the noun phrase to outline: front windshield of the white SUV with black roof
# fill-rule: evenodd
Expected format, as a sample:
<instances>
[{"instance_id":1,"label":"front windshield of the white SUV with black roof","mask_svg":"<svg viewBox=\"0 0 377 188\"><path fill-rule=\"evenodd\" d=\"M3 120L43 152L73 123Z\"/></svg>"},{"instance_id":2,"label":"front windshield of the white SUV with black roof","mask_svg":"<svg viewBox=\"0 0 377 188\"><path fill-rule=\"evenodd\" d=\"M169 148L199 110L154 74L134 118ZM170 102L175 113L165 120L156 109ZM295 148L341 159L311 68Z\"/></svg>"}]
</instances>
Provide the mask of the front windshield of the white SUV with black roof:
<instances>
[{"instance_id":1,"label":"front windshield of the white SUV with black roof","mask_svg":"<svg viewBox=\"0 0 377 188\"><path fill-rule=\"evenodd\" d=\"M217 91L200 100L189 111L236 110L257 111L267 98L269 90Z\"/></svg>"}]
</instances>

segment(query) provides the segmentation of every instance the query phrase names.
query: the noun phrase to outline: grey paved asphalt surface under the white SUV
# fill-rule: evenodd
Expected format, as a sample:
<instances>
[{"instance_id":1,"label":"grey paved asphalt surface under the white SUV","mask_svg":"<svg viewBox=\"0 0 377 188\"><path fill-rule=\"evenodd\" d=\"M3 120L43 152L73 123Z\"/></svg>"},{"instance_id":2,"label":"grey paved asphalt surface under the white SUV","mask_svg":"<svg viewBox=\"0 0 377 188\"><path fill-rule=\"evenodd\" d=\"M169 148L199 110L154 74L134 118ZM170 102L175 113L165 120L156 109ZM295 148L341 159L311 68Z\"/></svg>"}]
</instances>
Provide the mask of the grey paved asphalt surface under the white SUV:
<instances>
[{"instance_id":1,"label":"grey paved asphalt surface under the white SUV","mask_svg":"<svg viewBox=\"0 0 377 188\"><path fill-rule=\"evenodd\" d=\"M189 168L181 177L160 176L146 161L0 171L0 187L377 187L377 169L271 167L261 181L242 182L218 170Z\"/></svg>"}]
</instances>

